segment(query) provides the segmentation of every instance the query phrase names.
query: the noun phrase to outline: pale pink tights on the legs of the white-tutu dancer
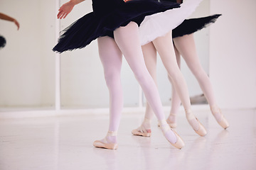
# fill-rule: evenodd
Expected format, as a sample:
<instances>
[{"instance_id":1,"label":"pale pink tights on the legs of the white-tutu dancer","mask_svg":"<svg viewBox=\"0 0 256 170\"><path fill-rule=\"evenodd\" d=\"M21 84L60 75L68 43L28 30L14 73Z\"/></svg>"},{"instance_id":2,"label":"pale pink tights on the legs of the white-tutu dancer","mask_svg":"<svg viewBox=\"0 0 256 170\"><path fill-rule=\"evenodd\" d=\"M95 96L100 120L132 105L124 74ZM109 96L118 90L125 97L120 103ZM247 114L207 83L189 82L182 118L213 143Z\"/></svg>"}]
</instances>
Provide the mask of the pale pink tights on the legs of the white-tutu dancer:
<instances>
[{"instance_id":1,"label":"pale pink tights on the legs of the white-tutu dancer","mask_svg":"<svg viewBox=\"0 0 256 170\"><path fill-rule=\"evenodd\" d=\"M156 38L156 40L153 42L149 42L148 44L143 45L142 50L144 54L144 60L146 62L146 67L154 81L156 81L156 51L159 52L164 67L169 74L169 79L173 83L174 89L176 89L178 96L181 98L181 102L185 111L189 111L191 109L191 103L188 94L188 87L176 62L171 32L167 33L164 37ZM152 113L153 112L151 111L149 105L146 104L145 118L151 119L153 117ZM196 119L191 120L191 124L193 125L194 129L198 129L198 123Z\"/></svg>"}]
</instances>

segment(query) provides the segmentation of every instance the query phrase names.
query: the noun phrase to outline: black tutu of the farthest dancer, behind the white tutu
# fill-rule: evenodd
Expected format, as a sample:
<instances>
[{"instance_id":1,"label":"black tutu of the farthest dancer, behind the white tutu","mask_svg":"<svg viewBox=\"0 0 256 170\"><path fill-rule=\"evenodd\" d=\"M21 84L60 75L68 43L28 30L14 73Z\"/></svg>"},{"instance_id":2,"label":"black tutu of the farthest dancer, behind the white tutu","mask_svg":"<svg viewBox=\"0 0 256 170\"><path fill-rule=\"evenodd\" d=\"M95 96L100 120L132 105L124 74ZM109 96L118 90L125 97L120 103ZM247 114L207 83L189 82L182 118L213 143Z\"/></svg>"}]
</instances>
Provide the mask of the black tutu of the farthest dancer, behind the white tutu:
<instances>
[{"instance_id":1,"label":"black tutu of the farthest dancer, behind the white tutu","mask_svg":"<svg viewBox=\"0 0 256 170\"><path fill-rule=\"evenodd\" d=\"M209 26L210 23L215 23L219 16L221 16L221 14L215 14L213 16L206 16L202 18L187 19L183 21L181 25L172 30L172 37L177 38L183 35L195 33L196 31Z\"/></svg>"}]
</instances>

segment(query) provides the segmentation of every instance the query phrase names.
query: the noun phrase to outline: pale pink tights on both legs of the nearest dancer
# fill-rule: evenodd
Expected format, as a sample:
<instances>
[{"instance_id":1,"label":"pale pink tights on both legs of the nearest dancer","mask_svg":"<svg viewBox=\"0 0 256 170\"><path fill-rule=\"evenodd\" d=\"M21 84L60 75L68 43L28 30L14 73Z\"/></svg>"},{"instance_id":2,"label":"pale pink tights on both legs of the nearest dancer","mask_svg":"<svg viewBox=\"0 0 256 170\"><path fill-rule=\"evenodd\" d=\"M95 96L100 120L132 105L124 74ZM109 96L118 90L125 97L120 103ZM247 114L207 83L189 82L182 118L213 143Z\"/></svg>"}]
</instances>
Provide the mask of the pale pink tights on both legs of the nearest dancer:
<instances>
[{"instance_id":1,"label":"pale pink tights on both legs of the nearest dancer","mask_svg":"<svg viewBox=\"0 0 256 170\"><path fill-rule=\"evenodd\" d=\"M131 67L132 72L134 72L137 81L142 86L142 90L149 105L156 114L156 118L158 120L165 120L159 92L144 63L137 23L131 22L125 27L114 30L114 40L108 37L98 38L100 59L110 91L109 130L118 130L122 112L122 88L120 84L122 54L127 60L129 67ZM176 135L171 130L166 132L165 135L170 142L176 142ZM108 140L116 142L117 139L116 137L109 137Z\"/></svg>"}]
</instances>

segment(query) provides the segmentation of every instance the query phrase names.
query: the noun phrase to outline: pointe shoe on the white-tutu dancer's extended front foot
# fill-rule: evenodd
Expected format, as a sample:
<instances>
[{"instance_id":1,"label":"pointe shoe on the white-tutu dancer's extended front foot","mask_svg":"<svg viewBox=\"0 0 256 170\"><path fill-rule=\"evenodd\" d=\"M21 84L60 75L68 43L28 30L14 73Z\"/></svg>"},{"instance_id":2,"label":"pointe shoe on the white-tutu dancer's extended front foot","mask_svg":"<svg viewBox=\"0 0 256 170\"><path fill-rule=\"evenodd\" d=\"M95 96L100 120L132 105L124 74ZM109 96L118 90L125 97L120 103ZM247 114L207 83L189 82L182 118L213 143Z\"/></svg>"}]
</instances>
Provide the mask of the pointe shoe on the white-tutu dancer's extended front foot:
<instances>
[{"instance_id":1,"label":"pointe shoe on the white-tutu dancer's extended front foot","mask_svg":"<svg viewBox=\"0 0 256 170\"><path fill-rule=\"evenodd\" d=\"M188 123L192 126L193 130L195 130L195 132L204 137L207 134L206 128L203 127L203 125L199 122L198 118L196 118L195 115L193 115L193 113L191 113L190 110L186 111L186 118L188 120ZM194 127L192 120L195 120L198 122L198 129L196 129L196 127Z\"/></svg>"}]
</instances>

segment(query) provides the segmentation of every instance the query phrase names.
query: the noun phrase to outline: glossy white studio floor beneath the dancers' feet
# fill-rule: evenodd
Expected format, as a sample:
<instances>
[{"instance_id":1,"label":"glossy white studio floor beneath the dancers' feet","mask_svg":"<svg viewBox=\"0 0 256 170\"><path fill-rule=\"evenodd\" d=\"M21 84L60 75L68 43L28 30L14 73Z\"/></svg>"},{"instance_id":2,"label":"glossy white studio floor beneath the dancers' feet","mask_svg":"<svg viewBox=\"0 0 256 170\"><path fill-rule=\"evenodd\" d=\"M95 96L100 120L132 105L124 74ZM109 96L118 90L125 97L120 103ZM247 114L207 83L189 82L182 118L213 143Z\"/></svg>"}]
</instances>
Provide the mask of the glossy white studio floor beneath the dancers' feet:
<instances>
[{"instance_id":1,"label":"glossy white studio floor beneath the dancers' feet","mask_svg":"<svg viewBox=\"0 0 256 170\"><path fill-rule=\"evenodd\" d=\"M119 149L98 149L107 115L0 120L1 170L66 169L255 169L256 111L224 110L230 128L223 130L209 111L196 113L208 130L199 137L178 116L177 132L186 142L179 150L165 140L153 121L151 137L132 136L142 114L124 114Z\"/></svg>"}]
</instances>

